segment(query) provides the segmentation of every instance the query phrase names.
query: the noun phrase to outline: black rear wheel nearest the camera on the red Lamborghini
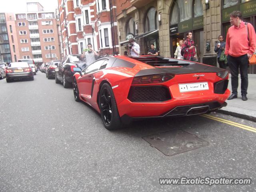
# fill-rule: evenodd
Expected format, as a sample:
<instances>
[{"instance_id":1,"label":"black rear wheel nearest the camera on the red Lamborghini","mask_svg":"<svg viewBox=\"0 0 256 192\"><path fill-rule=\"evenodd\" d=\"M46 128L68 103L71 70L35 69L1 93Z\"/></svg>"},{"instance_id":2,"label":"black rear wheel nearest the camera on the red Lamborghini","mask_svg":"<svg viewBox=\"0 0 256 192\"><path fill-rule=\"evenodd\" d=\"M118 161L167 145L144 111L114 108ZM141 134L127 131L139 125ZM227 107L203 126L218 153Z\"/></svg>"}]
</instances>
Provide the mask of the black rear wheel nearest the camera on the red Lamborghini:
<instances>
[{"instance_id":1,"label":"black rear wheel nearest the camera on the red Lamborghini","mask_svg":"<svg viewBox=\"0 0 256 192\"><path fill-rule=\"evenodd\" d=\"M106 129L114 130L121 128L121 120L115 96L108 83L104 83L100 88L99 107L101 118Z\"/></svg>"}]
</instances>

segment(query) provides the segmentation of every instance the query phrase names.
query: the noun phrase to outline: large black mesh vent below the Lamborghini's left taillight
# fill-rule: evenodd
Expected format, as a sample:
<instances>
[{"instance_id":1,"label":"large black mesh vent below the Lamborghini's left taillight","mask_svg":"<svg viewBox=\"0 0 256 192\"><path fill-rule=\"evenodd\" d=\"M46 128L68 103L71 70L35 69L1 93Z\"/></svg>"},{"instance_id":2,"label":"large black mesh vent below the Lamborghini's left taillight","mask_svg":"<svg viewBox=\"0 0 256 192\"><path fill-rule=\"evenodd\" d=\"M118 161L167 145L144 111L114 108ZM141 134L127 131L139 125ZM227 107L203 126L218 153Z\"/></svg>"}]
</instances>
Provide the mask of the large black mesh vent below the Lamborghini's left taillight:
<instances>
[{"instance_id":1,"label":"large black mesh vent below the Lamborghini's left taillight","mask_svg":"<svg viewBox=\"0 0 256 192\"><path fill-rule=\"evenodd\" d=\"M128 99L131 102L163 102L170 100L170 92L164 86L132 86Z\"/></svg>"}]
</instances>

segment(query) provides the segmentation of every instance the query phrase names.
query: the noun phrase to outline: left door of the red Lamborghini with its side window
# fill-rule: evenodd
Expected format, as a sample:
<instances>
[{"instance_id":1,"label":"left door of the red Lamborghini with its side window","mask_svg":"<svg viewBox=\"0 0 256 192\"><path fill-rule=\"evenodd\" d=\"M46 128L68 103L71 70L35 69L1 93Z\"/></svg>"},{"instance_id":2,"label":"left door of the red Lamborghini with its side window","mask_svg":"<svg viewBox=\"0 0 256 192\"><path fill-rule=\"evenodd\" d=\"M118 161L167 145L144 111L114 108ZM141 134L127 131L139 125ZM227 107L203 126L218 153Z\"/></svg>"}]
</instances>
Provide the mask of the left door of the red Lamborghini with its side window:
<instances>
[{"instance_id":1,"label":"left door of the red Lamborghini with its side window","mask_svg":"<svg viewBox=\"0 0 256 192\"><path fill-rule=\"evenodd\" d=\"M94 74L99 71L105 60L97 60L85 68L82 72L82 76L79 78L79 91L81 96L86 98L86 100L91 98L92 89L94 86L95 78Z\"/></svg>"}]
</instances>

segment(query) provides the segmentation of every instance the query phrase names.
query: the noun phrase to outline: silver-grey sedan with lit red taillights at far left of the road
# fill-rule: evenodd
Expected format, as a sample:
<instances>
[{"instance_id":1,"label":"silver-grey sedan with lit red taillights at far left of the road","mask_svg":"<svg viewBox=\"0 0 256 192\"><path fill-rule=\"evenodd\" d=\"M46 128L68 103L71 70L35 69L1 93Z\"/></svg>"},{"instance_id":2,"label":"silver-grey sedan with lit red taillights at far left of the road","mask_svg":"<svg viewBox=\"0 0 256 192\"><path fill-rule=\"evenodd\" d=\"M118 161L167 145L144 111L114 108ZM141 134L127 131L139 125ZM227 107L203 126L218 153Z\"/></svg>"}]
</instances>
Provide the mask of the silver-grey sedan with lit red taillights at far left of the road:
<instances>
[{"instance_id":1,"label":"silver-grey sedan with lit red taillights at far left of the road","mask_svg":"<svg viewBox=\"0 0 256 192\"><path fill-rule=\"evenodd\" d=\"M10 63L6 69L6 82L10 82L12 79L27 78L34 80L34 75L31 67L27 62L13 62Z\"/></svg>"}]
</instances>

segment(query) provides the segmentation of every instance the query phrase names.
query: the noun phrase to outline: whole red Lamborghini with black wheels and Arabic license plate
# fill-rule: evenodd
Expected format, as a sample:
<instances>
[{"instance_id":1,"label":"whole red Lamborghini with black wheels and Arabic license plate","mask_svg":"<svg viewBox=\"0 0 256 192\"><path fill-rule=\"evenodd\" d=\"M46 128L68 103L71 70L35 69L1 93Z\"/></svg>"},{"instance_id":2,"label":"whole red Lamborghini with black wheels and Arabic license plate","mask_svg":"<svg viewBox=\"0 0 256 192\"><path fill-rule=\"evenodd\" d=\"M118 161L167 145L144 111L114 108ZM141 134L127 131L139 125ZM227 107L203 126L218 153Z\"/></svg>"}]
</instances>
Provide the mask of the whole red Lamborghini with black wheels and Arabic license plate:
<instances>
[{"instance_id":1,"label":"whole red Lamborghini with black wheels and Arabic license plate","mask_svg":"<svg viewBox=\"0 0 256 192\"><path fill-rule=\"evenodd\" d=\"M230 94L227 70L159 56L110 56L73 70L75 100L95 108L108 130L133 118L212 112Z\"/></svg>"}]
</instances>

